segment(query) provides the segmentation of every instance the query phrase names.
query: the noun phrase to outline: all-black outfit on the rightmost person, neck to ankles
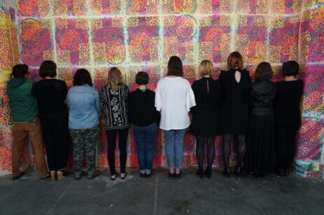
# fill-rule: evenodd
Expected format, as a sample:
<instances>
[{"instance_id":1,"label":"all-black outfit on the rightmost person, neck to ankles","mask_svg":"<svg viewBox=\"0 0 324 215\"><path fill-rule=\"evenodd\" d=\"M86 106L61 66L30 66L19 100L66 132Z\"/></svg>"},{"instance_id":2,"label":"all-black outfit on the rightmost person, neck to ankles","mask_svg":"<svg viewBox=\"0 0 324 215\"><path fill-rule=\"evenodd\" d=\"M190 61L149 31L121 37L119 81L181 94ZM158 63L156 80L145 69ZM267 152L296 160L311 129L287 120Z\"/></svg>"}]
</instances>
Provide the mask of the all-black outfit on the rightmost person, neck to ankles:
<instances>
[{"instance_id":1,"label":"all-black outfit on the rightmost person, neck to ankles","mask_svg":"<svg viewBox=\"0 0 324 215\"><path fill-rule=\"evenodd\" d=\"M295 140L301 124L300 101L303 82L281 81L276 83L276 168L290 170L295 155Z\"/></svg>"}]
</instances>

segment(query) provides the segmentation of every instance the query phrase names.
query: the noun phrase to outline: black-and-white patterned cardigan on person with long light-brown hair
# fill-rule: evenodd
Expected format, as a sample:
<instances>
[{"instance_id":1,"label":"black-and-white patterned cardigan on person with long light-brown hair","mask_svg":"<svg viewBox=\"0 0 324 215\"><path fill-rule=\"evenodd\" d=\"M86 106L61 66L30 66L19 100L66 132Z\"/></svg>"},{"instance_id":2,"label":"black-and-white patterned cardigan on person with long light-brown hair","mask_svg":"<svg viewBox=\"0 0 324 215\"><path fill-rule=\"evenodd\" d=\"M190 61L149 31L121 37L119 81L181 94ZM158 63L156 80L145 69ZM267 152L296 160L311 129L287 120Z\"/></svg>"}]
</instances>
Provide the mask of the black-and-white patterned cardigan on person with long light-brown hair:
<instances>
[{"instance_id":1,"label":"black-and-white patterned cardigan on person with long light-brown hair","mask_svg":"<svg viewBox=\"0 0 324 215\"><path fill-rule=\"evenodd\" d=\"M128 122L129 87L123 85L116 91L106 86L101 88L101 112L104 114L105 129L115 130L129 127Z\"/></svg>"}]
</instances>

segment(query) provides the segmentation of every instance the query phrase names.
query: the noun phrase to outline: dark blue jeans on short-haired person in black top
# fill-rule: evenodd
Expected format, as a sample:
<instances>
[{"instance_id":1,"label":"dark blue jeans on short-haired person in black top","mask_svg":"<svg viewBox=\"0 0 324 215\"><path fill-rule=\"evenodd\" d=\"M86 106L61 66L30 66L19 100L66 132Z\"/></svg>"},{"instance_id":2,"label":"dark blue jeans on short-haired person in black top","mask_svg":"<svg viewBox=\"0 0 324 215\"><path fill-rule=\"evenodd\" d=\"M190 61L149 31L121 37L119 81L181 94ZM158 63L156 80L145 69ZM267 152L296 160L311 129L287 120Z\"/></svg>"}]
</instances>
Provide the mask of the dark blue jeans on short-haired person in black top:
<instances>
[{"instance_id":1,"label":"dark blue jeans on short-haired person in black top","mask_svg":"<svg viewBox=\"0 0 324 215\"><path fill-rule=\"evenodd\" d=\"M137 159L139 169L150 173L153 168L154 141L157 135L157 124L136 126L133 124L134 136L137 144Z\"/></svg>"}]
</instances>

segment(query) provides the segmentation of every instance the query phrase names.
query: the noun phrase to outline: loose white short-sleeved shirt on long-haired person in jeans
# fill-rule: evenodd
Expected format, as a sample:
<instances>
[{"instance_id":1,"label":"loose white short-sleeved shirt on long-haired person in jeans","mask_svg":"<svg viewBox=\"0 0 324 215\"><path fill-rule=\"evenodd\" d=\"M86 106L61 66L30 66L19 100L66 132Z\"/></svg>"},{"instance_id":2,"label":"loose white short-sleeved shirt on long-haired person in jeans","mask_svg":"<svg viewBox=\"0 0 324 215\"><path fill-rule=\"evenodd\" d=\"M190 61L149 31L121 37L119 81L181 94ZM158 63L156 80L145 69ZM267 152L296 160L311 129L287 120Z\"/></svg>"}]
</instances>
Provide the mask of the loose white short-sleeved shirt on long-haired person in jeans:
<instances>
[{"instance_id":1,"label":"loose white short-sleeved shirt on long-haired person in jeans","mask_svg":"<svg viewBox=\"0 0 324 215\"><path fill-rule=\"evenodd\" d=\"M188 128L188 112L195 105L195 95L188 80L183 77L163 77L157 82L155 107L161 112L161 129Z\"/></svg>"}]
</instances>

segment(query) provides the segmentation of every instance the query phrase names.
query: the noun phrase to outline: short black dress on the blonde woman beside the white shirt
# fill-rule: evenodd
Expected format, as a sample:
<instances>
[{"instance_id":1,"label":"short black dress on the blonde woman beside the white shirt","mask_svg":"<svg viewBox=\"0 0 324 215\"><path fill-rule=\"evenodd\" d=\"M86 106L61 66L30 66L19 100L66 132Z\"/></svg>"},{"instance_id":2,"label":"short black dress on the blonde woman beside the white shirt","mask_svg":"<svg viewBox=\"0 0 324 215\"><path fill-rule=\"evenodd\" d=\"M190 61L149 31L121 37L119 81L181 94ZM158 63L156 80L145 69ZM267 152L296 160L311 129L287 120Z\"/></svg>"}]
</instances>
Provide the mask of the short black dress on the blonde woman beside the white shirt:
<instances>
[{"instance_id":1,"label":"short black dress on the blonde woman beside the white shirt","mask_svg":"<svg viewBox=\"0 0 324 215\"><path fill-rule=\"evenodd\" d=\"M207 89L209 88L209 91ZM202 77L192 83L196 106L191 107L190 133L197 136L215 136L219 133L219 81Z\"/></svg>"}]
</instances>

